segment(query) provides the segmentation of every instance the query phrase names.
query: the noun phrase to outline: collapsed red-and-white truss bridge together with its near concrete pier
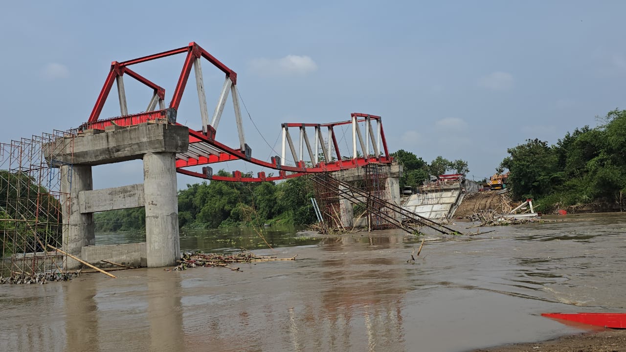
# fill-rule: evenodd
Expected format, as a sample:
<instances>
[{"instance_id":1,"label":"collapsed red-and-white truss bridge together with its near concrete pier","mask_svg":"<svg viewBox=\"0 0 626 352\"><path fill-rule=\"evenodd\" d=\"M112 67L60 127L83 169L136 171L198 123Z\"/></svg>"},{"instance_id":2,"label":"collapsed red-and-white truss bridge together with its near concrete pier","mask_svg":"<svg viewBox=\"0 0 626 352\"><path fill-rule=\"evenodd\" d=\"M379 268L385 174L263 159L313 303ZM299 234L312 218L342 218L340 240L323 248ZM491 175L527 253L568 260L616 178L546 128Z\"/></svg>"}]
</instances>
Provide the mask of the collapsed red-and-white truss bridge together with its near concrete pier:
<instances>
[{"instance_id":1,"label":"collapsed red-and-white truss bridge together with its near concrete pier","mask_svg":"<svg viewBox=\"0 0 626 352\"><path fill-rule=\"evenodd\" d=\"M186 56L166 106L165 89L134 70L134 65L176 54ZM209 115L202 75L205 61L225 74L212 115ZM178 108L192 70L200 107L197 120L202 124L197 129L178 122ZM126 96L124 81L128 77L151 91L145 111L128 111L130 97ZM100 119L114 84L121 116ZM220 135L228 133L218 133L218 128L220 131L227 128L228 132L225 123L220 127L220 121L224 120L223 111L229 97L234 112L232 125L236 126L239 139L230 144L220 139ZM260 182L356 169L371 163L391 165L392 162L380 116L352 113L349 120L341 122L283 123L279 130L282 135L280 155L262 160L253 156L241 115L237 73L196 43L134 60L113 61L88 121L40 143L47 167L60 169L54 175L59 179L61 194L58 209L63 219L63 250L91 263L106 260L148 267L175 264L180 257L176 173L209 180ZM352 145L350 148L346 143L347 149L341 150L337 130L344 131L345 137L346 128L352 132ZM143 160L143 184L93 189L93 166L136 159ZM278 174L265 175L260 171L256 177L245 177L247 175L235 171L232 177L213 175L213 163L233 160L277 170ZM202 172L197 167L202 167ZM93 214L133 207L145 207L146 242L95 246ZM47 245L42 243L40 247ZM47 253L44 252L44 256ZM71 256L64 259L64 269L80 267L80 262Z\"/></svg>"}]
</instances>

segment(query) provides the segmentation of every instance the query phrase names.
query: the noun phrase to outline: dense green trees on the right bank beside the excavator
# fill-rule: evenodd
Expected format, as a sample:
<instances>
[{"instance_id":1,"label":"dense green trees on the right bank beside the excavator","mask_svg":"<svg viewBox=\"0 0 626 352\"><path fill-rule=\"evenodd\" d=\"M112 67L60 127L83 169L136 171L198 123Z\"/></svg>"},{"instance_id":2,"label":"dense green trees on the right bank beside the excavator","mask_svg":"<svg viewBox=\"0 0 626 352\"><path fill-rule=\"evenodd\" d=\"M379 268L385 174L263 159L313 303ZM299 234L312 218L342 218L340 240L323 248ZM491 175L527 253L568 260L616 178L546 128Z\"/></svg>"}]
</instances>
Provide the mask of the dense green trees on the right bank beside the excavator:
<instances>
[{"instance_id":1,"label":"dense green trees on the right bank beside the excavator","mask_svg":"<svg viewBox=\"0 0 626 352\"><path fill-rule=\"evenodd\" d=\"M623 209L626 110L609 111L601 120L598 127L566 133L556 145L535 139L508 149L500 169L510 171L514 199L534 198L543 212L591 202Z\"/></svg>"}]
</instances>

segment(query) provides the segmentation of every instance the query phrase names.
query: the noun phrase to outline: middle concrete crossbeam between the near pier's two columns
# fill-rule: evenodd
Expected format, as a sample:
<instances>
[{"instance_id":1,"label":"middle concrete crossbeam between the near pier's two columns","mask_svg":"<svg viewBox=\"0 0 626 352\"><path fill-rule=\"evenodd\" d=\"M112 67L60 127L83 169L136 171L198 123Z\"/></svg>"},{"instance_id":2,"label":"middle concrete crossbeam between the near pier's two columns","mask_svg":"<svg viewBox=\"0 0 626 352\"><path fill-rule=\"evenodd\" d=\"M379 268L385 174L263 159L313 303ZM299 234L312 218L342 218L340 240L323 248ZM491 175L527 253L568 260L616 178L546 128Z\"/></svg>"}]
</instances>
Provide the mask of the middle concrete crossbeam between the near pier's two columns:
<instances>
[{"instance_id":1,"label":"middle concrete crossbeam between the near pier's two columns","mask_svg":"<svg viewBox=\"0 0 626 352\"><path fill-rule=\"evenodd\" d=\"M95 213L106 210L143 207L143 184L78 192L80 212Z\"/></svg>"}]
</instances>

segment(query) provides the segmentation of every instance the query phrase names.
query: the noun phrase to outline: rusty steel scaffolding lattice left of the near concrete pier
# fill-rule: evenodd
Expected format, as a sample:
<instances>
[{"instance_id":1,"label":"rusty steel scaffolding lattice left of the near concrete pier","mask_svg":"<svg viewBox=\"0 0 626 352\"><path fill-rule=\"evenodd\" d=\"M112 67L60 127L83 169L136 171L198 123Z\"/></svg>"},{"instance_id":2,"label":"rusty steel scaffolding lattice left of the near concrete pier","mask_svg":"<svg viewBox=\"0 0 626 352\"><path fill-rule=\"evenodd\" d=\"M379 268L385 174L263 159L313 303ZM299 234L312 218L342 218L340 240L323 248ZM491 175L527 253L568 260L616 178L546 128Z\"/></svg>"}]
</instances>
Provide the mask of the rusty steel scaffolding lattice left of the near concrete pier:
<instances>
[{"instance_id":1,"label":"rusty steel scaffolding lattice left of the near concrete pier","mask_svg":"<svg viewBox=\"0 0 626 352\"><path fill-rule=\"evenodd\" d=\"M73 134L69 133L73 137ZM65 257L49 251L63 237L63 207L69 193L61 190L59 166L64 148L73 150L74 138L54 131L0 143L0 282L43 283L66 279ZM61 142L59 142L61 141ZM64 190L64 192L69 192Z\"/></svg>"}]
</instances>

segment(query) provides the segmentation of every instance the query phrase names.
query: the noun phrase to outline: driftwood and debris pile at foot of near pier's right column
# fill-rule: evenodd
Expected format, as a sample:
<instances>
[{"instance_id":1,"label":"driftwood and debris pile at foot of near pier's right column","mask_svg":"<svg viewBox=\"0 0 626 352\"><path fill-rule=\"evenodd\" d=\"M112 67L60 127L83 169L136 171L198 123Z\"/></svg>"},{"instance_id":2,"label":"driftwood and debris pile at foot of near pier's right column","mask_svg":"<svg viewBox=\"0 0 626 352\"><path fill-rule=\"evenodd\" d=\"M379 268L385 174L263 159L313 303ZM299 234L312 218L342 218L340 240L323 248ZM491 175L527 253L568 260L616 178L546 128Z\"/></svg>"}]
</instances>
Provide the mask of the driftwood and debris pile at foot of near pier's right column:
<instances>
[{"instance_id":1,"label":"driftwood and debris pile at foot of near pier's right column","mask_svg":"<svg viewBox=\"0 0 626 352\"><path fill-rule=\"evenodd\" d=\"M235 254L185 252L180 258L180 264L173 271L187 270L190 267L227 267L233 271L241 271L239 267L233 267L235 263L269 262L269 261L294 261L296 256L290 258L277 258L272 256L257 256L250 251L244 250Z\"/></svg>"}]
</instances>

